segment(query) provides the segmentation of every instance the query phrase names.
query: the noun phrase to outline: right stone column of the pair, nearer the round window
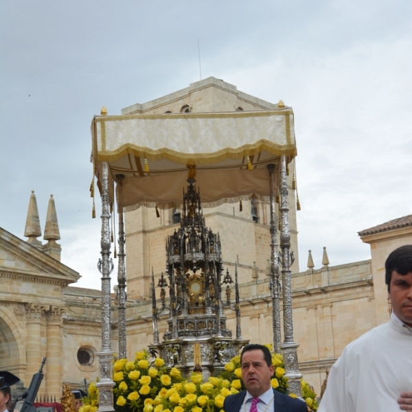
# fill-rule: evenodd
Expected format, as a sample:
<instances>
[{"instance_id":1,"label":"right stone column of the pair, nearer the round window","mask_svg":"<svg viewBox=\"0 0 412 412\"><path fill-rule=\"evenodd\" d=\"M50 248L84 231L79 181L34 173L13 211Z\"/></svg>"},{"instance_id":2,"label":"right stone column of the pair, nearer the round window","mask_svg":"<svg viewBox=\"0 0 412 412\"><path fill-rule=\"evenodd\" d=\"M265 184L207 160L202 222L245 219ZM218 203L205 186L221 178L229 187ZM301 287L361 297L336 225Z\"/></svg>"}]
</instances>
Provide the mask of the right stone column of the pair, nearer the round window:
<instances>
[{"instance_id":1,"label":"right stone column of the pair, nearer the round window","mask_svg":"<svg viewBox=\"0 0 412 412\"><path fill-rule=\"evenodd\" d=\"M62 396L62 341L61 315L64 312L60 306L50 306L45 312L47 319L47 374L45 374L46 393L48 396Z\"/></svg>"}]
</instances>

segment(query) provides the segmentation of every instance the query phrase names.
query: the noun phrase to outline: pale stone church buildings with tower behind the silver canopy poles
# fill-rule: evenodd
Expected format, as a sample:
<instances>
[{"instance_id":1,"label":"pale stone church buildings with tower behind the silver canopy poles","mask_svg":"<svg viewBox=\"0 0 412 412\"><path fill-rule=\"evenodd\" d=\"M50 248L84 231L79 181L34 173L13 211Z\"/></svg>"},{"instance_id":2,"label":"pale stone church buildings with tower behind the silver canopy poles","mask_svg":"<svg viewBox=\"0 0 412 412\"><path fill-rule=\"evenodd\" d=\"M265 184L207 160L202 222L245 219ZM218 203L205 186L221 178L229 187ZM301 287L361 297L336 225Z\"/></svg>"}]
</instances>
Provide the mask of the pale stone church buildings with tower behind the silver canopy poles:
<instances>
[{"instance_id":1,"label":"pale stone church buildings with tower behind the silver canopy poles","mask_svg":"<svg viewBox=\"0 0 412 412\"><path fill-rule=\"evenodd\" d=\"M125 108L122 114L276 107L277 104L242 93L222 80L209 78L152 102ZM290 170L291 249L296 256L292 271L299 267L294 179L295 174ZM100 290L69 286L76 284L80 276L60 262L54 200L50 204L43 237L46 244L37 240L42 232L34 194L27 214L27 242L0 229L0 369L12 371L28 385L43 356L47 356L41 393L58 398L62 382L78 387L84 379L90 382L98 376L95 354L101 346ZM239 203L204 209L207 226L220 233L225 269L233 275L235 264L238 265L242 338L254 343L271 343L273 336L271 294L266 277L270 255L268 209L264 202L254 200L244 201L242 210ZM127 350L133 358L137 350L153 341L150 279L152 270L155 278L165 271L165 239L179 226L179 210L160 210L157 217L155 209L140 207L127 212L125 222ZM366 229L359 235L371 245L371 260L331 266L324 255L323 267L315 269L309 260L308 271L292 274L299 368L318 392L326 369L339 357L343 347L389 319L383 264L391 250L412 243L412 216ZM258 277L252 278L252 273L258 273ZM115 273L112 278L115 284ZM166 330L167 316L164 314L159 319L161 336ZM228 327L235 330L234 312L225 310L225 316ZM117 336L113 295L115 352Z\"/></svg>"}]
</instances>

